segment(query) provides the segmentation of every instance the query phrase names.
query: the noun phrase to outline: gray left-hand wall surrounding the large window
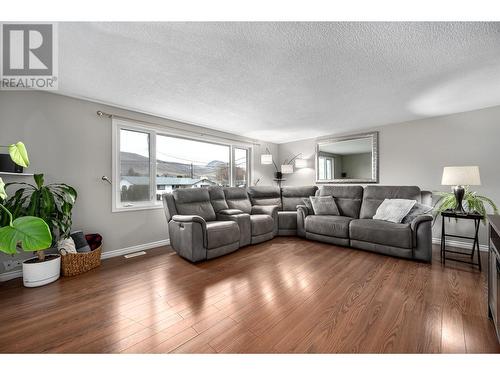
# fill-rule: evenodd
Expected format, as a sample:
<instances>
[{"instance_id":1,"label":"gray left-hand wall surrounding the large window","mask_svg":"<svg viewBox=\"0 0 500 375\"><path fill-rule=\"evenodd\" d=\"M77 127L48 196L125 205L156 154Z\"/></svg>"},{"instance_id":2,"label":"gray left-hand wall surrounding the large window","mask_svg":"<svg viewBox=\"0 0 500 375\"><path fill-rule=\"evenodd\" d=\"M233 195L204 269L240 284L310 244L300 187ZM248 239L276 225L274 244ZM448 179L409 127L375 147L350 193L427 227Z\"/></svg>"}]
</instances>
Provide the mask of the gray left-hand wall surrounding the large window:
<instances>
[{"instance_id":1,"label":"gray left-hand wall surrounding the large window","mask_svg":"<svg viewBox=\"0 0 500 375\"><path fill-rule=\"evenodd\" d=\"M111 120L97 117L97 110L198 133L228 134L51 93L0 92L1 144L23 141L31 160L27 172L43 172L47 183L65 182L77 189L73 228L101 233L104 252L166 239L161 209L111 212L111 186L100 179L102 175L111 177ZM252 183L259 177L260 185L273 183L274 167L260 164L260 154L266 147L275 157L278 155L275 144L262 142L254 147ZM18 176L15 180L30 178ZM16 257L29 256L31 253ZM10 257L0 253L0 273L6 259Z\"/></svg>"}]
</instances>

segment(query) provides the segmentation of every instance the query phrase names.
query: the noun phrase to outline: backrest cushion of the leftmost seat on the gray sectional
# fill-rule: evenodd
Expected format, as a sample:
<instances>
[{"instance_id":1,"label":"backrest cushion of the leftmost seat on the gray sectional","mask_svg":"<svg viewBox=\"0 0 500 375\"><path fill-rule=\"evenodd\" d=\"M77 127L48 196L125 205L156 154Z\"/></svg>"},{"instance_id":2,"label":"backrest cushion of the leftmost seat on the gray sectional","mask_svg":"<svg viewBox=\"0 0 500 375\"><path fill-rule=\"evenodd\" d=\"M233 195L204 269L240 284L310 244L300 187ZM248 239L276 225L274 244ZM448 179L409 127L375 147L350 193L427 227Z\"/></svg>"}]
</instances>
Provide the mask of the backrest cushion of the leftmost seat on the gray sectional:
<instances>
[{"instance_id":1,"label":"backrest cushion of the leftmost seat on the gray sectional","mask_svg":"<svg viewBox=\"0 0 500 375\"><path fill-rule=\"evenodd\" d=\"M176 189L172 195L179 215L198 215L206 221L215 220L215 211L207 189Z\"/></svg>"}]
</instances>

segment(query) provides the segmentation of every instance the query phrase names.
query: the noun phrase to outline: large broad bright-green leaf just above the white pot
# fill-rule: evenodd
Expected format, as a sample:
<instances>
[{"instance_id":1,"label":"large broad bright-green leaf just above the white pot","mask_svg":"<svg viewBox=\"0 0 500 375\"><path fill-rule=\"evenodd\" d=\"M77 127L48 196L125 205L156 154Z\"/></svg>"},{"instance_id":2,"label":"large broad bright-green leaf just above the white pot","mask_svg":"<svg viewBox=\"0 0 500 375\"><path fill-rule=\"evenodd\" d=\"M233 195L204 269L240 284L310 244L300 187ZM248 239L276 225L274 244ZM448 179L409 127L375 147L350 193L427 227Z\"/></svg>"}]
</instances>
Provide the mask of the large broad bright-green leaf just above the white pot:
<instances>
[{"instance_id":1,"label":"large broad bright-green leaf just above the white pot","mask_svg":"<svg viewBox=\"0 0 500 375\"><path fill-rule=\"evenodd\" d=\"M16 245L24 251L38 251L50 247L52 235L49 226L38 217L24 216L12 222L12 226L0 228L0 251L16 253Z\"/></svg>"}]
</instances>

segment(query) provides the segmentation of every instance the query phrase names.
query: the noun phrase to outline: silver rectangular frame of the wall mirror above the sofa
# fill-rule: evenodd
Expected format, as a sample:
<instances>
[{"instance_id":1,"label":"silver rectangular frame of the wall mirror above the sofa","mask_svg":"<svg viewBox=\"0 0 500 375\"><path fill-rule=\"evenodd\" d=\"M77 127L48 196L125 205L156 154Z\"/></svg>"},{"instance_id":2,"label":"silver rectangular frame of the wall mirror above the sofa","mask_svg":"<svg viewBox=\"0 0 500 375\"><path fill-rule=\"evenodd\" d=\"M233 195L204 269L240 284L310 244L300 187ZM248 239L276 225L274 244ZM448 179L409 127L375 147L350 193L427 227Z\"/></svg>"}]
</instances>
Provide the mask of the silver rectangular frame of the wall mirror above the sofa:
<instances>
[{"instance_id":1,"label":"silver rectangular frame of the wall mirror above the sofa","mask_svg":"<svg viewBox=\"0 0 500 375\"><path fill-rule=\"evenodd\" d=\"M335 142L351 141L355 139L369 138L372 141L372 177L371 178L333 178L330 180L320 180L318 171L319 148L322 145ZM378 183L378 131L370 133L352 134L344 137L326 138L316 142L316 152L314 157L314 171L316 174L317 184L346 184L346 183Z\"/></svg>"}]
</instances>

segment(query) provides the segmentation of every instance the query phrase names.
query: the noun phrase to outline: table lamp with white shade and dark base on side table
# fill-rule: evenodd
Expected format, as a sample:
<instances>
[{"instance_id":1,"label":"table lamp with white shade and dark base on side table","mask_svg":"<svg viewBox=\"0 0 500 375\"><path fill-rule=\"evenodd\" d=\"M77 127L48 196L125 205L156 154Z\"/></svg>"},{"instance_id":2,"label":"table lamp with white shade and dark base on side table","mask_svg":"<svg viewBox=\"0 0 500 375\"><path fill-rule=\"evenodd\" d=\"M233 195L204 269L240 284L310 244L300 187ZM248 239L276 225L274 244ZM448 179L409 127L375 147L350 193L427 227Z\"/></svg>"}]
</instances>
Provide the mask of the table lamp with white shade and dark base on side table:
<instances>
[{"instance_id":1,"label":"table lamp with white shade and dark base on side table","mask_svg":"<svg viewBox=\"0 0 500 375\"><path fill-rule=\"evenodd\" d=\"M478 166L467 167L444 167L441 185L453 186L453 194L455 196L456 206L455 211L465 213L462 201L465 196L465 186L481 185ZM469 207L469 210L471 208Z\"/></svg>"}]
</instances>

